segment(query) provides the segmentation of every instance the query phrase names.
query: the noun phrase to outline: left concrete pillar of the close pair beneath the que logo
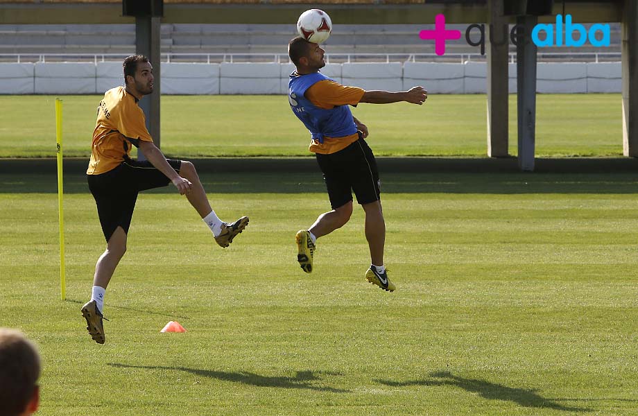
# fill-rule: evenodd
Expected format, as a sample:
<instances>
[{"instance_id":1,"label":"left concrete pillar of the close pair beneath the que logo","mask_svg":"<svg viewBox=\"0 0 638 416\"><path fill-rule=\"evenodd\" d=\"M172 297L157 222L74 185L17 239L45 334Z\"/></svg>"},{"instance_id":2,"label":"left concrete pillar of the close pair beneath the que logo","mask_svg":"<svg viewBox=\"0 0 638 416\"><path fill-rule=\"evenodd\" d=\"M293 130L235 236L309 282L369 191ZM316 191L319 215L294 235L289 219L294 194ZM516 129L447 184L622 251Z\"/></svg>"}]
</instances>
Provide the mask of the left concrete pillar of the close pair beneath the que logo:
<instances>
[{"instance_id":1,"label":"left concrete pillar of the close pair beneath the que logo","mask_svg":"<svg viewBox=\"0 0 638 416\"><path fill-rule=\"evenodd\" d=\"M488 156L508 156L508 19L503 0L488 0Z\"/></svg>"}]
</instances>

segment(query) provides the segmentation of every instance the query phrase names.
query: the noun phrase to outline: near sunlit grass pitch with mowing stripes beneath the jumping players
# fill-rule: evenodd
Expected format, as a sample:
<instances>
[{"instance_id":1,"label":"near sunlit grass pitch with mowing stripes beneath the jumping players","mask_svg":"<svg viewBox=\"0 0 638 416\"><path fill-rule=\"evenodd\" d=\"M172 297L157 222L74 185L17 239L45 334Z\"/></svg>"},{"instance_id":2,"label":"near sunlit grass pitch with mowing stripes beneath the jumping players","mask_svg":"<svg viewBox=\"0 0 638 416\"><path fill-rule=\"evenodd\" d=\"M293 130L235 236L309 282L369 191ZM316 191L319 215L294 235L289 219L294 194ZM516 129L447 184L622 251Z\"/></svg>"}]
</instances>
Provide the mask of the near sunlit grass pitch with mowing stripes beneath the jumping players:
<instances>
[{"instance_id":1,"label":"near sunlit grass pitch with mowing stripes beneath the jumping players","mask_svg":"<svg viewBox=\"0 0 638 416\"><path fill-rule=\"evenodd\" d=\"M62 302L55 178L0 177L0 326L40 345L39 414L638 414L635 175L383 175L395 293L363 279L359 208L298 268L318 175L202 175L222 218L251 218L226 250L144 193L103 346L79 309L104 241L66 180Z\"/></svg>"}]
</instances>

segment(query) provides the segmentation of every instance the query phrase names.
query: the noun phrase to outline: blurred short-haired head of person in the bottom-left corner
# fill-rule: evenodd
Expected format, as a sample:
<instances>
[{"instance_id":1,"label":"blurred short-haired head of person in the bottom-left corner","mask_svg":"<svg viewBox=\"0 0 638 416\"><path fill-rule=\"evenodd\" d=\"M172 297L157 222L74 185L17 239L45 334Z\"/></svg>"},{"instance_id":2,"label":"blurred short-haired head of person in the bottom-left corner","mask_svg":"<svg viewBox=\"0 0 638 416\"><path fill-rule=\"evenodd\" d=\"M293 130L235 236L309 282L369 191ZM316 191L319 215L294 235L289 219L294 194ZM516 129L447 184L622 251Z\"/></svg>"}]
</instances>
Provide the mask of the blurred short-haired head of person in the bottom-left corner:
<instances>
[{"instance_id":1,"label":"blurred short-haired head of person in the bottom-left corner","mask_svg":"<svg viewBox=\"0 0 638 416\"><path fill-rule=\"evenodd\" d=\"M0 416L20 415L40 377L40 354L23 333L0 328Z\"/></svg>"}]
</instances>

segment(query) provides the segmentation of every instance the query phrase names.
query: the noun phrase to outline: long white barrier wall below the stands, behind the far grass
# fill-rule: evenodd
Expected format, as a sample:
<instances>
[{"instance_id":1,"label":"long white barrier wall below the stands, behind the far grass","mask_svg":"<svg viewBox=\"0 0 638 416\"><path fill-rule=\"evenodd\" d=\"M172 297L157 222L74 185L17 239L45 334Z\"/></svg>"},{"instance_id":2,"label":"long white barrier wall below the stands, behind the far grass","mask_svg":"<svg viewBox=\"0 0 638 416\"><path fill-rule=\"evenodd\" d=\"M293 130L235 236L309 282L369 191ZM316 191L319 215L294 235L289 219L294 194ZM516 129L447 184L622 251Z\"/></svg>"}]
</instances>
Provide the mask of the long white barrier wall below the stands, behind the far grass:
<instances>
[{"instance_id":1,"label":"long white barrier wall below the stands, behind the far grass","mask_svg":"<svg viewBox=\"0 0 638 416\"><path fill-rule=\"evenodd\" d=\"M162 63L162 94L287 94L293 64ZM485 94L487 64L390 62L327 64L322 73L344 85L403 91L422 85L431 94ZM120 62L0 63L0 94L102 94L123 85ZM508 88L516 92L516 64ZM540 62L537 92L619 93L621 63Z\"/></svg>"}]
</instances>

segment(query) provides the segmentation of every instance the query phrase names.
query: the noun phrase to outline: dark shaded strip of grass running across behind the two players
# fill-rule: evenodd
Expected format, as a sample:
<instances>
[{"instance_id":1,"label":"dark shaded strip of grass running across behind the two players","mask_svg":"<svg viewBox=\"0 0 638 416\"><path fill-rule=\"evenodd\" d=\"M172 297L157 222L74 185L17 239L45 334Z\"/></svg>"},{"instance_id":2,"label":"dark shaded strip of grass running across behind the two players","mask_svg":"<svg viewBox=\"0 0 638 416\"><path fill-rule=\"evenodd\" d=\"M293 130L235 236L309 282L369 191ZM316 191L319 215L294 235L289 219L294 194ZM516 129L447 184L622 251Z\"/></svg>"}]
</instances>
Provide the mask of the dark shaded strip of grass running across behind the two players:
<instances>
[{"instance_id":1,"label":"dark shaded strip of grass running across behind the two players","mask_svg":"<svg viewBox=\"0 0 638 416\"><path fill-rule=\"evenodd\" d=\"M207 193L320 193L325 184L316 173L203 173ZM636 193L635 173L384 173L381 194L388 193ZM0 193L58 193L55 174L0 175ZM64 175L64 193L90 195L86 175ZM177 195L175 187L144 191ZM327 196L325 196L327 198Z\"/></svg>"}]
</instances>

